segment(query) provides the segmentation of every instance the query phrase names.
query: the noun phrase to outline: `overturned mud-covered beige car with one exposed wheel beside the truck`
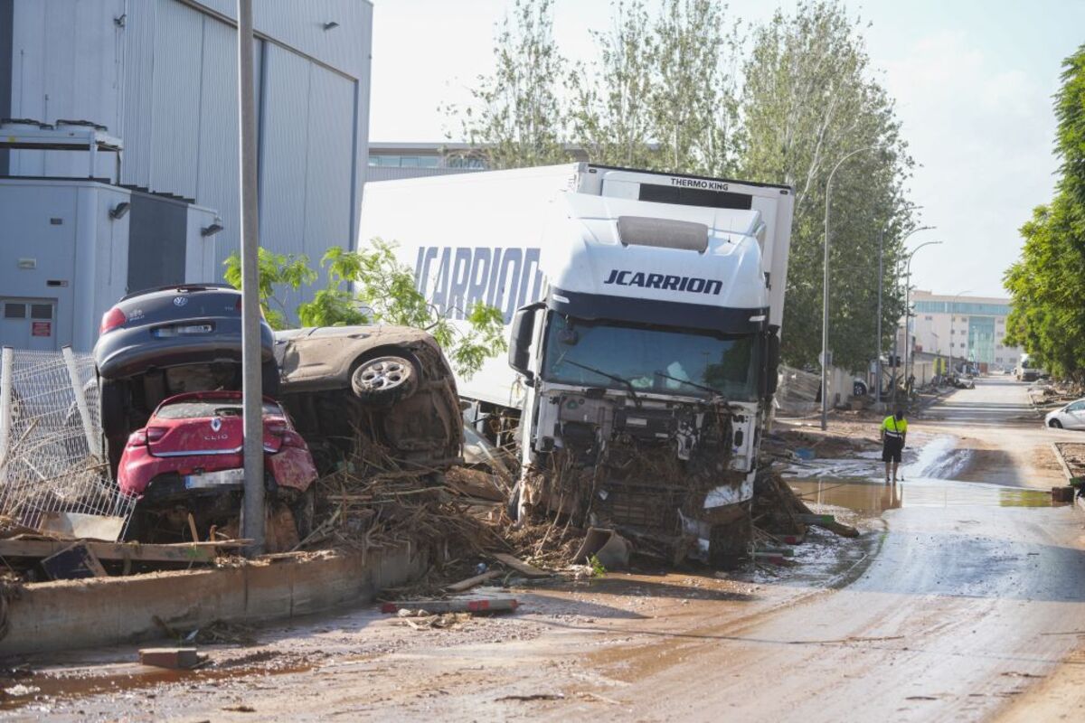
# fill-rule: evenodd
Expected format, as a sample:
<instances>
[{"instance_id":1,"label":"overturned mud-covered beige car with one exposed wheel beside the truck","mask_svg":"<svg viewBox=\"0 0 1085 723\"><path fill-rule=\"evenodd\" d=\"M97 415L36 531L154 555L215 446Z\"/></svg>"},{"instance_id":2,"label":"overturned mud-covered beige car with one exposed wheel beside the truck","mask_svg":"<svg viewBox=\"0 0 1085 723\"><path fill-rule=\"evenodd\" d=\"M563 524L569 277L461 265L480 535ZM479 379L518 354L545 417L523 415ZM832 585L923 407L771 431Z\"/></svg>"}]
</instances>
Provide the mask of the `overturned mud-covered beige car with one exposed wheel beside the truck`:
<instances>
[{"instance_id":1,"label":"overturned mud-covered beige car with one exposed wheel beside the truck","mask_svg":"<svg viewBox=\"0 0 1085 723\"><path fill-rule=\"evenodd\" d=\"M367 442L420 469L460 462L456 379L432 336L405 326L321 326L275 337L279 399L321 474Z\"/></svg>"}]
</instances>

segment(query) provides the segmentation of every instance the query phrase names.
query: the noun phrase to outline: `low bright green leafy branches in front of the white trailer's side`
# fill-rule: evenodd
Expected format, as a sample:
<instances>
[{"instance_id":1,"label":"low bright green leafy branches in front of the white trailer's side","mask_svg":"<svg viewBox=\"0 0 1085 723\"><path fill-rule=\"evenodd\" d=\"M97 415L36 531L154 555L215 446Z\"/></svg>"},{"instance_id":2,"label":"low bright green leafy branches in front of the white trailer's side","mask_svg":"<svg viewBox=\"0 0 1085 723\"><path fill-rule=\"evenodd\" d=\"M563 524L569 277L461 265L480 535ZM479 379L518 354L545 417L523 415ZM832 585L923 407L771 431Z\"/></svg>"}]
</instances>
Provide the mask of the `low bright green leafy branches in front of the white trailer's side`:
<instances>
[{"instance_id":1,"label":"low bright green leafy branches in front of the white trailer's side","mask_svg":"<svg viewBox=\"0 0 1085 723\"><path fill-rule=\"evenodd\" d=\"M433 335L452 367L464 377L477 372L487 357L508 348L499 309L477 302L464 310L462 323L452 323L417 289L411 270L396 259L394 244L374 238L370 248L361 251L332 246L320 263L324 286L296 310L303 326L391 324L421 328ZM231 255L225 266L227 283L241 288L240 257ZM276 286L298 291L320 274L309 268L304 256L271 254L264 248L259 272L264 313L275 328L284 328L289 317L276 299ZM352 285L355 291L350 291ZM272 309L272 302L280 309Z\"/></svg>"}]
</instances>

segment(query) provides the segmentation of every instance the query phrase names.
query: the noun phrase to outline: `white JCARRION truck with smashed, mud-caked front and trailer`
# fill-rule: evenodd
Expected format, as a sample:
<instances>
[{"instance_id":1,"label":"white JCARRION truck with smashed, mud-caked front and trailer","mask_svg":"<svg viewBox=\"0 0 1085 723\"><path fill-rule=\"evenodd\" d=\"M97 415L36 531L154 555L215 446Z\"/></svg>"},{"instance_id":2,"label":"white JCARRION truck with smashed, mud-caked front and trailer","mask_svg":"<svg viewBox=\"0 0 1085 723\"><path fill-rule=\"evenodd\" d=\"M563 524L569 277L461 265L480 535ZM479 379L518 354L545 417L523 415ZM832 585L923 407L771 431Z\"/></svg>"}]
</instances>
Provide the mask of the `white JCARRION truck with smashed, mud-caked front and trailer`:
<instances>
[{"instance_id":1,"label":"white JCARRION truck with smashed, mud-caked front and trailer","mask_svg":"<svg viewBox=\"0 0 1085 723\"><path fill-rule=\"evenodd\" d=\"M455 320L505 314L508 359L458 386L481 430L518 425L519 514L717 561L749 539L792 209L783 185L579 163L369 183L359 246L395 242Z\"/></svg>"}]
</instances>

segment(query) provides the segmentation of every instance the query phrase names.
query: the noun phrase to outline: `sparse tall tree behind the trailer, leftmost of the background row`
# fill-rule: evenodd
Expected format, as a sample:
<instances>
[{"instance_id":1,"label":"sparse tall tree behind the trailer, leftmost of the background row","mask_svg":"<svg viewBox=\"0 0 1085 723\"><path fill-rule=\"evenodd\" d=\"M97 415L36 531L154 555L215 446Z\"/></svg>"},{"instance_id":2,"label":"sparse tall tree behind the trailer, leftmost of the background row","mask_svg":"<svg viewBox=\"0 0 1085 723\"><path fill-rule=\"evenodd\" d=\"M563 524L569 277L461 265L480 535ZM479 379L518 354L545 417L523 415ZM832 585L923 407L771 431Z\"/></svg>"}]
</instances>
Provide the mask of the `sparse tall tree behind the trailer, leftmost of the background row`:
<instances>
[{"instance_id":1,"label":"sparse tall tree behind the trailer, leftmost of the background row","mask_svg":"<svg viewBox=\"0 0 1085 723\"><path fill-rule=\"evenodd\" d=\"M471 89L473 104L445 112L490 168L545 166L570 159L558 83L565 61L553 40L553 0L516 0L494 44L493 75Z\"/></svg>"}]
</instances>

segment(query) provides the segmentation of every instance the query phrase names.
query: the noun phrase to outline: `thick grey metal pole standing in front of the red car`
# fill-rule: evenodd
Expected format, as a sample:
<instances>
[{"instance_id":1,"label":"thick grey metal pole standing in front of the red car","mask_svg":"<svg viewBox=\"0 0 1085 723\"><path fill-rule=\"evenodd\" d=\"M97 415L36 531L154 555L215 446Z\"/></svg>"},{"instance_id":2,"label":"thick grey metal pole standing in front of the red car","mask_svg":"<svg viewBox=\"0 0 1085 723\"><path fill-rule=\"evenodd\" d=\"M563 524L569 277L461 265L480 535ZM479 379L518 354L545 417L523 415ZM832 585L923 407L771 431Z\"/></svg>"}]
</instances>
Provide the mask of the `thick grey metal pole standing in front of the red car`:
<instances>
[{"instance_id":1,"label":"thick grey metal pole standing in front of the red car","mask_svg":"<svg viewBox=\"0 0 1085 723\"><path fill-rule=\"evenodd\" d=\"M253 88L253 2L238 0L238 120L241 164L241 365L245 496L242 534L250 555L264 552L264 398L260 378L259 229L256 207L256 100Z\"/></svg>"}]
</instances>

